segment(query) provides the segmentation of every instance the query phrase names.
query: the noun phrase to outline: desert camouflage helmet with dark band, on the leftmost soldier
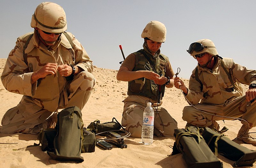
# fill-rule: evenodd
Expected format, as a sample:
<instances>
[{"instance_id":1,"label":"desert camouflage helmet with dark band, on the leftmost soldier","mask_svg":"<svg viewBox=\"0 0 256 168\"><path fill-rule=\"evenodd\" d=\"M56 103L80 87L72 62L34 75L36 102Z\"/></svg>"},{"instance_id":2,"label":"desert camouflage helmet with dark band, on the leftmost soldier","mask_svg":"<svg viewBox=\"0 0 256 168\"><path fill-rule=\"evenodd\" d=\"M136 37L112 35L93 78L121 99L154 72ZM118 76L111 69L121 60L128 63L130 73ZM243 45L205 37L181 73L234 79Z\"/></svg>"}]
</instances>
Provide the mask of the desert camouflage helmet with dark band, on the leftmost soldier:
<instances>
[{"instance_id":1,"label":"desert camouflage helmet with dark band, on the leftmost soldier","mask_svg":"<svg viewBox=\"0 0 256 168\"><path fill-rule=\"evenodd\" d=\"M36 7L30 26L46 32L62 33L67 30L66 13L52 2L43 2Z\"/></svg>"}]
</instances>

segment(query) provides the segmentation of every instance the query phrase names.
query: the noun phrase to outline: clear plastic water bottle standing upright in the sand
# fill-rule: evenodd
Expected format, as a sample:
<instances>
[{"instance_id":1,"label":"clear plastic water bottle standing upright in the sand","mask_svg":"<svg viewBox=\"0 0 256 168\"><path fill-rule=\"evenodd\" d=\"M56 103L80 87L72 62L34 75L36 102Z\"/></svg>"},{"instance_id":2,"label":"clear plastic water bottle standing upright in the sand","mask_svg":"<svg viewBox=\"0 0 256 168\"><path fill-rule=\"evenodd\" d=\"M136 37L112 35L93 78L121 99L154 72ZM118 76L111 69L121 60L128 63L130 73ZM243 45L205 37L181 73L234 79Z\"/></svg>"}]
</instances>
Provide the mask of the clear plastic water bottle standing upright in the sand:
<instances>
[{"instance_id":1,"label":"clear plastic water bottle standing upright in the sand","mask_svg":"<svg viewBox=\"0 0 256 168\"><path fill-rule=\"evenodd\" d=\"M143 112L141 142L144 145L151 145L154 134L154 110L151 107L151 102L148 102L147 105Z\"/></svg>"}]
</instances>

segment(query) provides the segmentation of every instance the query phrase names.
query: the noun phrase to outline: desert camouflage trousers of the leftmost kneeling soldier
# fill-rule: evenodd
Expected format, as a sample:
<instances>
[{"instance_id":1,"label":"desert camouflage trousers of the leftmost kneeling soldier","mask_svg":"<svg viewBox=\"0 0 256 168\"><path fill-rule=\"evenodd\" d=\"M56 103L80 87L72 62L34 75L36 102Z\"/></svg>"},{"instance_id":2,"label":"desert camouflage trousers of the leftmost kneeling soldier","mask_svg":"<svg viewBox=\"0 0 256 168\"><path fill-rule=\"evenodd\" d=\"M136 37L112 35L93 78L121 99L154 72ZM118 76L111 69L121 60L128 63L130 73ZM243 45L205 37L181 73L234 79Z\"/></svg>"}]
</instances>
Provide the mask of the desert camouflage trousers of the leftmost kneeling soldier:
<instances>
[{"instance_id":1,"label":"desert camouflage trousers of the leftmost kneeling soldier","mask_svg":"<svg viewBox=\"0 0 256 168\"><path fill-rule=\"evenodd\" d=\"M56 110L71 106L77 106L82 109L89 99L95 84L95 80L85 80L86 76L94 79L93 75L87 71L83 71L74 76L66 93L60 93L59 105L53 104L52 106L56 106ZM65 97L67 97L67 99ZM12 134L23 132L36 134L41 128L49 128L55 125L57 122L56 116L47 119L51 114L52 111L39 107L31 101L23 105L18 104L4 114L1 133ZM45 121L46 119L48 122Z\"/></svg>"}]
</instances>

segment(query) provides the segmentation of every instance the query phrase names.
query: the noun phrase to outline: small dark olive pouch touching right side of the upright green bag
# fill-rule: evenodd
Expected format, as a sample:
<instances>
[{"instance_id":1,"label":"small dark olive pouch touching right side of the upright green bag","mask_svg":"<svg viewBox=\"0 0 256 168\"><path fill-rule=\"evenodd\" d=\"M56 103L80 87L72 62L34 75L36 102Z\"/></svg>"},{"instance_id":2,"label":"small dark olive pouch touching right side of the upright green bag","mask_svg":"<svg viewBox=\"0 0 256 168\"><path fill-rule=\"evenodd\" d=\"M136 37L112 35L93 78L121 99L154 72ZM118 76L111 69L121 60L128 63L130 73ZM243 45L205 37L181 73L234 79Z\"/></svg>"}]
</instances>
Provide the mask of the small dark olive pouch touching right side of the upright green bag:
<instances>
[{"instance_id":1,"label":"small dark olive pouch touching right side of the upright green bag","mask_svg":"<svg viewBox=\"0 0 256 168\"><path fill-rule=\"evenodd\" d=\"M82 153L94 152L96 146L95 132L90 129L83 128L83 136L84 151L82 151Z\"/></svg>"}]
</instances>

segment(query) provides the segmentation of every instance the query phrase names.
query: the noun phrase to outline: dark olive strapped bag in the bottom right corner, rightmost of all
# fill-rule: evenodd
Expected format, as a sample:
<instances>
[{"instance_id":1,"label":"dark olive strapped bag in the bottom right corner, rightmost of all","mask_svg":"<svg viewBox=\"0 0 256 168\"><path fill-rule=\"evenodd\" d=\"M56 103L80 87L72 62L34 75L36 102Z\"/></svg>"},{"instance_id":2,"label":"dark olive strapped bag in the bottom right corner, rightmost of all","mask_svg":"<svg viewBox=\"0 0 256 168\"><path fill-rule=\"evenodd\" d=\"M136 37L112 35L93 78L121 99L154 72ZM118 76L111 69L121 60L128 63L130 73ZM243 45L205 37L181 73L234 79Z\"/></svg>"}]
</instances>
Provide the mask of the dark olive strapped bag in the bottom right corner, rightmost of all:
<instances>
[{"instance_id":1,"label":"dark olive strapped bag in the bottom right corner, rightmost of all","mask_svg":"<svg viewBox=\"0 0 256 168\"><path fill-rule=\"evenodd\" d=\"M236 161L232 165L233 167L251 166L256 161L256 151L237 144L223 134L206 127L202 136L210 149L215 152L215 155L219 153L232 161Z\"/></svg>"}]
</instances>

